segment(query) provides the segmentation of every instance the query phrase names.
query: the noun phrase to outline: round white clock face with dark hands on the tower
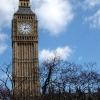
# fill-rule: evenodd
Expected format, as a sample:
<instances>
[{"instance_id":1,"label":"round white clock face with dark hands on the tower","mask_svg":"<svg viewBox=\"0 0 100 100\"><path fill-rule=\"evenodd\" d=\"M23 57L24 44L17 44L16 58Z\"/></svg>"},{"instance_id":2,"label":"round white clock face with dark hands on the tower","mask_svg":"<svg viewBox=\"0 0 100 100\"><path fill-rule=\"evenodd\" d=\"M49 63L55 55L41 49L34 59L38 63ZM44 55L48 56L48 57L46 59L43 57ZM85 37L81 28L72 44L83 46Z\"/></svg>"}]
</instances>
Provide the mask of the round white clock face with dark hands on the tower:
<instances>
[{"instance_id":1,"label":"round white clock face with dark hands on the tower","mask_svg":"<svg viewBox=\"0 0 100 100\"><path fill-rule=\"evenodd\" d=\"M32 26L29 23L23 22L18 26L18 31L22 34L28 34L32 31Z\"/></svg>"}]
</instances>

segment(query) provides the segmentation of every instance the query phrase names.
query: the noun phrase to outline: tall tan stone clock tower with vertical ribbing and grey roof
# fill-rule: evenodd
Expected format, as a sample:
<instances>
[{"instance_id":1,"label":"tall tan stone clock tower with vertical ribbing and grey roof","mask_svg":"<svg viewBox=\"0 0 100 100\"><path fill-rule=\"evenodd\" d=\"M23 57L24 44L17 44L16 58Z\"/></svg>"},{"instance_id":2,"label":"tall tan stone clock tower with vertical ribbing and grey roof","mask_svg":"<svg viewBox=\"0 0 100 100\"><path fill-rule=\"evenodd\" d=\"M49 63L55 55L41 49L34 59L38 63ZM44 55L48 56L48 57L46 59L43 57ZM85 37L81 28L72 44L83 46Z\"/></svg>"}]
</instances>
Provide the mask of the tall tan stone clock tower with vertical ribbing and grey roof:
<instances>
[{"instance_id":1,"label":"tall tan stone clock tower with vertical ribbing and grey roof","mask_svg":"<svg viewBox=\"0 0 100 100\"><path fill-rule=\"evenodd\" d=\"M33 100L39 96L38 21L30 0L19 0L19 8L13 15L12 80L14 98Z\"/></svg>"}]
</instances>

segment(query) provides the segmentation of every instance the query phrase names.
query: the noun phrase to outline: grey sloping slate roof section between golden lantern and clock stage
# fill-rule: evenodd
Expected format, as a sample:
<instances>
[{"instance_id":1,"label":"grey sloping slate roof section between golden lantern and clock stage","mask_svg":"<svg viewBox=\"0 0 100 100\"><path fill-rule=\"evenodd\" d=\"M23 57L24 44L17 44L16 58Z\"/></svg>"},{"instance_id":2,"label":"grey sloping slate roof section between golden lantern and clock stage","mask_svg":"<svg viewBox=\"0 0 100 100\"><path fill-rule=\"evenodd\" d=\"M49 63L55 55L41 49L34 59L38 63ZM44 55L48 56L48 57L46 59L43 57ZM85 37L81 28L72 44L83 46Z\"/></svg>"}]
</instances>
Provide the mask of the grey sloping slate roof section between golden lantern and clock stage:
<instances>
[{"instance_id":1,"label":"grey sloping slate roof section between golden lantern and clock stage","mask_svg":"<svg viewBox=\"0 0 100 100\"><path fill-rule=\"evenodd\" d=\"M15 14L34 14L30 7L19 7Z\"/></svg>"}]
</instances>

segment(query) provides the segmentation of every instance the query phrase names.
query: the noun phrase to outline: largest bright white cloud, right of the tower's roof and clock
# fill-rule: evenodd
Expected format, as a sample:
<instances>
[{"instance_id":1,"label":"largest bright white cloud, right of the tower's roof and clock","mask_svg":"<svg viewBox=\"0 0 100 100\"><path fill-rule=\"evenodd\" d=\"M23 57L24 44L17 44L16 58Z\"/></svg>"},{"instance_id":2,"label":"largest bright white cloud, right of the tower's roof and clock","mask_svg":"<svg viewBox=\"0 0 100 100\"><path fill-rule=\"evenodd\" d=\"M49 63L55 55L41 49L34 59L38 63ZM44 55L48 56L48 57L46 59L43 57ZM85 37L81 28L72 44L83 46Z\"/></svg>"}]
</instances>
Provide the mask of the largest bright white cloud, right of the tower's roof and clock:
<instances>
[{"instance_id":1,"label":"largest bright white cloud, right of the tower's roof and clock","mask_svg":"<svg viewBox=\"0 0 100 100\"><path fill-rule=\"evenodd\" d=\"M40 27L48 30L52 35L59 34L66 29L74 17L69 0L33 1Z\"/></svg>"}]
</instances>

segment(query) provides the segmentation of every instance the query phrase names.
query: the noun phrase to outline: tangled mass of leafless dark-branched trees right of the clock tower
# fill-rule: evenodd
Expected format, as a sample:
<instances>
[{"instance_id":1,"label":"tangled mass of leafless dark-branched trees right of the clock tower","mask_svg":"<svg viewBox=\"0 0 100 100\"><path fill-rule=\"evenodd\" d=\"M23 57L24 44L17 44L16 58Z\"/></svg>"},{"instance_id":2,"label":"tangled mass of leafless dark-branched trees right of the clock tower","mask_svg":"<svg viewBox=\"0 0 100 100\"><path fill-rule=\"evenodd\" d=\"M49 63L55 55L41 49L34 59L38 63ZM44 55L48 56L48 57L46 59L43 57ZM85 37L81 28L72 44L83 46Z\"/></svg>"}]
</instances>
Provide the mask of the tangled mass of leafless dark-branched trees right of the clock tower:
<instances>
[{"instance_id":1,"label":"tangled mass of leafless dark-branched trees right of the clock tower","mask_svg":"<svg viewBox=\"0 0 100 100\"><path fill-rule=\"evenodd\" d=\"M44 61L41 67L42 94L48 94L52 99L54 94L58 100L93 99L100 87L100 73L95 68L96 63L78 65L57 57Z\"/></svg>"}]
</instances>

